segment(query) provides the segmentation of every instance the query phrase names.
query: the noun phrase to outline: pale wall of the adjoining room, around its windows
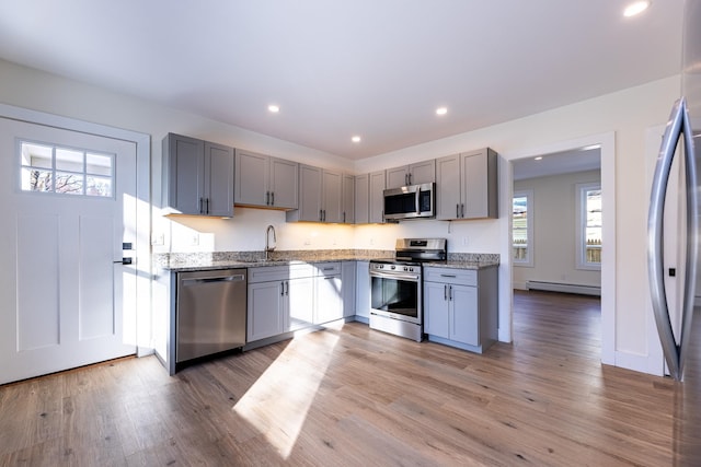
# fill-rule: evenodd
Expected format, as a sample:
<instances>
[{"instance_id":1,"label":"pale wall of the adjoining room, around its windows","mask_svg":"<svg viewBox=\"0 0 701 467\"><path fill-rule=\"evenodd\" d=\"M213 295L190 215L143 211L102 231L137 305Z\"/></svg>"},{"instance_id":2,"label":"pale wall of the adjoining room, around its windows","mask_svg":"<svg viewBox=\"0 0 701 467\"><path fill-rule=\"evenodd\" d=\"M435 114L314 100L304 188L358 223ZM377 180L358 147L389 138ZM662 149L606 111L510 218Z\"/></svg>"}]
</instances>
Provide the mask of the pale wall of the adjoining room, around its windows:
<instances>
[{"instance_id":1,"label":"pale wall of the adjoining room, around its windows","mask_svg":"<svg viewBox=\"0 0 701 467\"><path fill-rule=\"evenodd\" d=\"M533 266L514 265L515 289L525 289L529 280L601 284L600 271L576 268L576 184L600 180L599 171L587 171L514 183L514 191L533 192Z\"/></svg>"}]
</instances>

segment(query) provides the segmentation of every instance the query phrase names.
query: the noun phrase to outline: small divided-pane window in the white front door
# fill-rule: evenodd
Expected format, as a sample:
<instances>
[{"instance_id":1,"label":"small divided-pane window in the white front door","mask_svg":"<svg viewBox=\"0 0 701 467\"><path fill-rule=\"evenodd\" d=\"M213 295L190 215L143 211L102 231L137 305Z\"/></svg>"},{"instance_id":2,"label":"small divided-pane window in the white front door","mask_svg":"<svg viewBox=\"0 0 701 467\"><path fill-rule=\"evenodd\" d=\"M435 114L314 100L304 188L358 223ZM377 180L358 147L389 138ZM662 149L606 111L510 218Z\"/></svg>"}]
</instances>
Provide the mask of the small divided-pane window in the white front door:
<instances>
[{"instance_id":1,"label":"small divided-pane window in the white front door","mask_svg":"<svg viewBox=\"0 0 701 467\"><path fill-rule=\"evenodd\" d=\"M22 191L113 197L114 154L30 141L18 148Z\"/></svg>"}]
</instances>

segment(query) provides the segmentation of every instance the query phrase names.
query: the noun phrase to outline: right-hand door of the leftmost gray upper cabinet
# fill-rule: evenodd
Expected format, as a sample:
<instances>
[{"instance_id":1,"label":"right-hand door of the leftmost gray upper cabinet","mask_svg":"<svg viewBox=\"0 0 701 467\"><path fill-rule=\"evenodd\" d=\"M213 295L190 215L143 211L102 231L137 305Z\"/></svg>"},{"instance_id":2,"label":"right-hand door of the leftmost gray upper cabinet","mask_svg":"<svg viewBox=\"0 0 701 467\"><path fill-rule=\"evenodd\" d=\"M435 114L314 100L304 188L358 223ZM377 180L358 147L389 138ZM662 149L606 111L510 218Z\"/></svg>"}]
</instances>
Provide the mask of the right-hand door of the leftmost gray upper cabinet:
<instances>
[{"instance_id":1,"label":"right-hand door of the leftmost gray upper cabinet","mask_svg":"<svg viewBox=\"0 0 701 467\"><path fill-rule=\"evenodd\" d=\"M205 212L233 215L233 149L205 142Z\"/></svg>"}]
</instances>

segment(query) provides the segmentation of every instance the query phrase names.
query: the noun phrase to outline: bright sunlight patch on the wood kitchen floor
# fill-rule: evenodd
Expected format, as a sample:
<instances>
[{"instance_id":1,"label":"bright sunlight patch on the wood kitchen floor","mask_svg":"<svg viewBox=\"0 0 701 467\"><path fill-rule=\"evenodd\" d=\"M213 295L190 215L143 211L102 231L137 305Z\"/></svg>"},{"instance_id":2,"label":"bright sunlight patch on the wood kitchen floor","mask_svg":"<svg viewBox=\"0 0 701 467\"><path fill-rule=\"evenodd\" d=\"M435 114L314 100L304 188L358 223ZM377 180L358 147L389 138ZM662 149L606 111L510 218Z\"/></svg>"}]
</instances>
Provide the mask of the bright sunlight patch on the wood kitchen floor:
<instances>
[{"instance_id":1,"label":"bright sunlight patch on the wood kitchen floor","mask_svg":"<svg viewBox=\"0 0 701 467\"><path fill-rule=\"evenodd\" d=\"M233 407L288 458L326 373L338 336L292 339ZM294 362L294 363L292 363Z\"/></svg>"}]
</instances>

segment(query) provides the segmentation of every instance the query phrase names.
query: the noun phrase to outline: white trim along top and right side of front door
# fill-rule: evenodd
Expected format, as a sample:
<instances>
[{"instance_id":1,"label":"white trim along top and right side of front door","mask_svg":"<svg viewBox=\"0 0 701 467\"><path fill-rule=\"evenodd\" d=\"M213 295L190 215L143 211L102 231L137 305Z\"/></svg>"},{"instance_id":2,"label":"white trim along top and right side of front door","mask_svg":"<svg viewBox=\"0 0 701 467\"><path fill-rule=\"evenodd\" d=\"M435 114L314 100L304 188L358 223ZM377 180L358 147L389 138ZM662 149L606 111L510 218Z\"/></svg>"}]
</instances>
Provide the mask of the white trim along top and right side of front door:
<instances>
[{"instance_id":1,"label":"white trim along top and right side of front door","mask_svg":"<svg viewBox=\"0 0 701 467\"><path fill-rule=\"evenodd\" d=\"M0 117L30 124L39 124L88 135L113 138L136 144L137 164L137 207L136 207L136 316L137 316L137 355L153 353L151 328L151 136L133 130L108 127L100 124L77 120L60 115L47 114L0 103Z\"/></svg>"}]
</instances>

